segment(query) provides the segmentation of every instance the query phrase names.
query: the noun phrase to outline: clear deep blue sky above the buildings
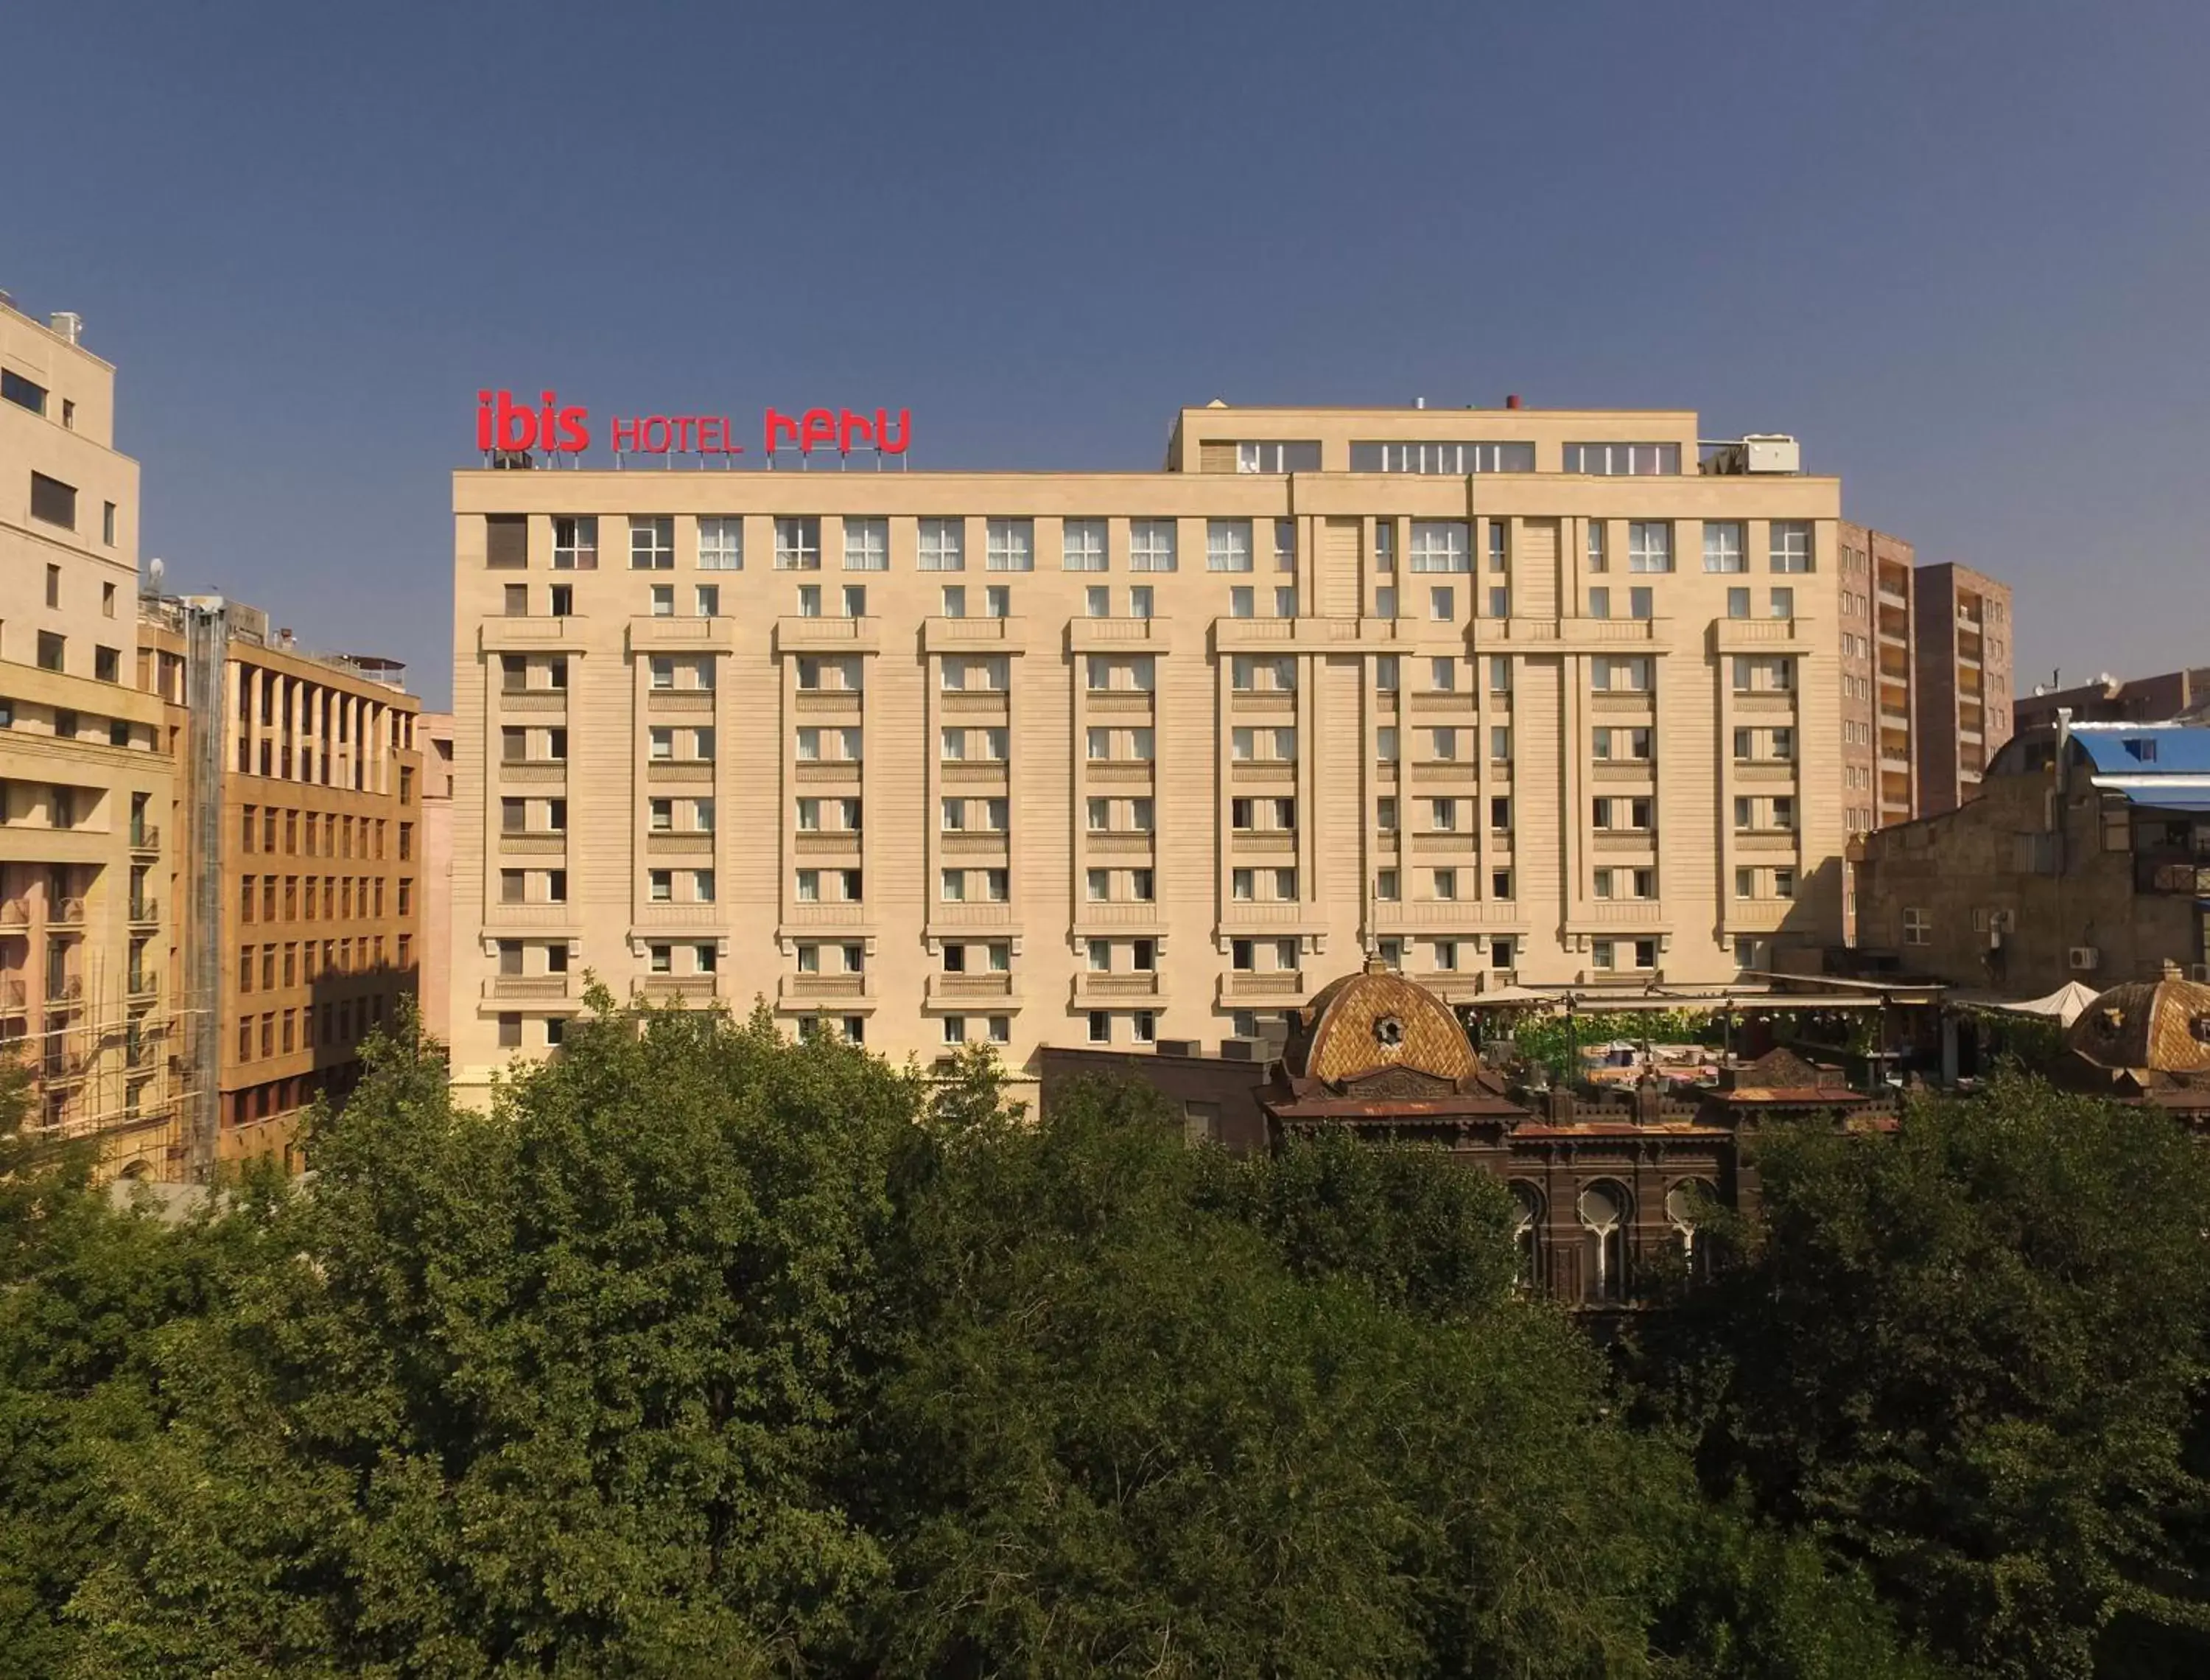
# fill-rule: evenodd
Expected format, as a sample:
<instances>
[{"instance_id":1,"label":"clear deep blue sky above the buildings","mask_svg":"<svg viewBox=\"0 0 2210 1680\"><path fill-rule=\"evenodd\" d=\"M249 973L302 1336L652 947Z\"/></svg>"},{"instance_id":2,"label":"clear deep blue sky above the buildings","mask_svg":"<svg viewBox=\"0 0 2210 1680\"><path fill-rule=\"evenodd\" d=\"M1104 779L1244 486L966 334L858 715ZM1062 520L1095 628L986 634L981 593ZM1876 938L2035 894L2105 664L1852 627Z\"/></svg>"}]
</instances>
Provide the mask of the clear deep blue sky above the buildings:
<instances>
[{"instance_id":1,"label":"clear deep blue sky above the buildings","mask_svg":"<svg viewBox=\"0 0 2210 1680\"><path fill-rule=\"evenodd\" d=\"M2020 687L2210 663L2210 4L133 4L9 29L0 287L122 367L146 555L451 687L480 385L1695 407L2018 590Z\"/></svg>"}]
</instances>

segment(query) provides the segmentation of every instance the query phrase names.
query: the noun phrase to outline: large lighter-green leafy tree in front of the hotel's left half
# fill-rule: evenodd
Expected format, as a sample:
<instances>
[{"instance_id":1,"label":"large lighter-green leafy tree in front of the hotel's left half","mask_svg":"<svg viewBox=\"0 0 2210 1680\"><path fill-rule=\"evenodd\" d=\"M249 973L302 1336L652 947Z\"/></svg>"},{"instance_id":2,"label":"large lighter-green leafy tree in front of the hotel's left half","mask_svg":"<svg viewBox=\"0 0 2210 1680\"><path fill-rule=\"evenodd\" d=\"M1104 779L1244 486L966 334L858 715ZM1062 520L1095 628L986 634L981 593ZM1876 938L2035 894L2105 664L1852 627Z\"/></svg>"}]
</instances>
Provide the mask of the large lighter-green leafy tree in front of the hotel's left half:
<instances>
[{"instance_id":1,"label":"large lighter-green leafy tree in front of the hotel's left half","mask_svg":"<svg viewBox=\"0 0 2210 1680\"><path fill-rule=\"evenodd\" d=\"M769 1019L601 1010L455 1114L378 1046L252 1287L113 1455L86 1673L771 1673L884 1569L840 1503L919 1090Z\"/></svg>"}]
</instances>

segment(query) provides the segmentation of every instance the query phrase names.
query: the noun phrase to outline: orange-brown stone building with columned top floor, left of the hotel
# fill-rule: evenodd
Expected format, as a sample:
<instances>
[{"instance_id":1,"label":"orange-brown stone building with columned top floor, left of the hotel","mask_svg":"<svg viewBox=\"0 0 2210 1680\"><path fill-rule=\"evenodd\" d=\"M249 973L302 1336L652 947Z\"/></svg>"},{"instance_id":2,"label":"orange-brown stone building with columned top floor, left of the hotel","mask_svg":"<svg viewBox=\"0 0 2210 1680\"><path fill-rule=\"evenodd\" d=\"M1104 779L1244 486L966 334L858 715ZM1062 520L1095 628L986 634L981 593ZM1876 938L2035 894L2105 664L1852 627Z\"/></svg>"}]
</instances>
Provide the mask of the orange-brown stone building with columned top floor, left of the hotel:
<instances>
[{"instance_id":1,"label":"orange-brown stone building with columned top floor, left of the hotel","mask_svg":"<svg viewBox=\"0 0 2210 1680\"><path fill-rule=\"evenodd\" d=\"M206 869L183 917L183 984L214 1010L192 1143L296 1158L301 1110L351 1085L362 1039L415 990L420 701L393 661L307 652L239 601L148 597L141 639L179 741L181 869ZM221 657L203 690L219 741L197 734L199 650Z\"/></svg>"}]
</instances>

